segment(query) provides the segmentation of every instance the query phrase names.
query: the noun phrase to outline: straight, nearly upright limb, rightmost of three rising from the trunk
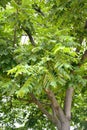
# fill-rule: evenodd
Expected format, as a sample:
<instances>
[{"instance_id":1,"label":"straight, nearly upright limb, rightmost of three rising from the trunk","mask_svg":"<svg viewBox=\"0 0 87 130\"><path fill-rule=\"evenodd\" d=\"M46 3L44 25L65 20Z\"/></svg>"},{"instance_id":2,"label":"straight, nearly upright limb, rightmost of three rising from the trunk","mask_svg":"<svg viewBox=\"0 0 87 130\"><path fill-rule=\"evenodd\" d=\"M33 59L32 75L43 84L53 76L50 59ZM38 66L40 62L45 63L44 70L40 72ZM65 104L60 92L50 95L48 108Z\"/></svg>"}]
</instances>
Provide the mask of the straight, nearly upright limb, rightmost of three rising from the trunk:
<instances>
[{"instance_id":1,"label":"straight, nearly upright limb, rightmost of three rising from the trunk","mask_svg":"<svg viewBox=\"0 0 87 130\"><path fill-rule=\"evenodd\" d=\"M72 104L73 91L74 91L73 87L70 87L66 90L65 95L64 112L68 120L71 119L71 104Z\"/></svg>"}]
</instances>

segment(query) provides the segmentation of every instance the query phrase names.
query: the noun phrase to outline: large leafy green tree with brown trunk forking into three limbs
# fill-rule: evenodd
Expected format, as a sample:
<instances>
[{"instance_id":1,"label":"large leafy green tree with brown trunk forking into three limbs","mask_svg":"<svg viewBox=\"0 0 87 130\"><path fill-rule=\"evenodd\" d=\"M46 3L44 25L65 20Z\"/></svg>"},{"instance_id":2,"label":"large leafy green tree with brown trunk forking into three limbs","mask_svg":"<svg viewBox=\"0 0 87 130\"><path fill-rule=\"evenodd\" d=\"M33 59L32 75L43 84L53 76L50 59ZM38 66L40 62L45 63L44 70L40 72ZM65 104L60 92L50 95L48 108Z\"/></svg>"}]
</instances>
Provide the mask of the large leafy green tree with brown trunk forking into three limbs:
<instances>
[{"instance_id":1,"label":"large leafy green tree with brown trunk forking into three limbs","mask_svg":"<svg viewBox=\"0 0 87 130\"><path fill-rule=\"evenodd\" d=\"M7 2L1 4L0 13L1 111L4 115L11 110L3 117L8 119L4 121L6 127L14 124L21 108L22 114L27 115L21 119L25 127L31 125L30 117L36 122L33 110L39 114L37 117L44 118L43 122L48 118L58 130L69 130L70 122L87 122L83 113L79 118L82 104L86 111L87 99L86 0ZM23 34L29 37L28 45L20 43ZM29 115L24 109L30 111ZM42 129L40 125L33 127Z\"/></svg>"}]
</instances>

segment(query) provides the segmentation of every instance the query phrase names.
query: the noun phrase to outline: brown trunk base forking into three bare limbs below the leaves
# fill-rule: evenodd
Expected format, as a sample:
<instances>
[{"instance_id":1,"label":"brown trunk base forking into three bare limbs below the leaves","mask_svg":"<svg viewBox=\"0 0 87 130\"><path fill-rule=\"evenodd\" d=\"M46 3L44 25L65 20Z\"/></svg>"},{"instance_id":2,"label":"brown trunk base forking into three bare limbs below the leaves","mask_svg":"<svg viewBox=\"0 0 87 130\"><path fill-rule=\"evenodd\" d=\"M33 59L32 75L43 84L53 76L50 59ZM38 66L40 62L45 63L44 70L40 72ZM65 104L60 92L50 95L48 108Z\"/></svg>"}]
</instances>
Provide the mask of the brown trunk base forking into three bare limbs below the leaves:
<instances>
[{"instance_id":1,"label":"brown trunk base forking into three bare limbs below the leaves","mask_svg":"<svg viewBox=\"0 0 87 130\"><path fill-rule=\"evenodd\" d=\"M70 130L73 88L67 88L66 90L64 111L56 100L54 93L50 89L44 89L44 91L51 102L52 113L49 113L34 94L30 93L29 95L31 96L32 102L38 106L50 121L52 121L58 130Z\"/></svg>"}]
</instances>

